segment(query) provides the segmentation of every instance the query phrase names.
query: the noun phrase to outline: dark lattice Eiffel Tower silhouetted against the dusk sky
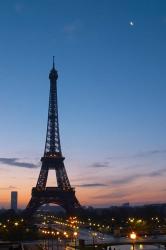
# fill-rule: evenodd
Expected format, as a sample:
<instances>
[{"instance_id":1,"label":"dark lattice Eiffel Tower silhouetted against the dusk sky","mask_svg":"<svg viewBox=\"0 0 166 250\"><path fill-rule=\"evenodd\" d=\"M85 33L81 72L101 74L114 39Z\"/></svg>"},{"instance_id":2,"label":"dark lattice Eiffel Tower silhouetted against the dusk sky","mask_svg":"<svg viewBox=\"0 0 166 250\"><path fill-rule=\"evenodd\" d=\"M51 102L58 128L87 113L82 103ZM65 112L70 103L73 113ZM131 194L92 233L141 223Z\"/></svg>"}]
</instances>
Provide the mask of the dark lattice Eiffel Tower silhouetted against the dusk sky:
<instances>
[{"instance_id":1,"label":"dark lattice Eiffel Tower silhouetted against the dusk sky","mask_svg":"<svg viewBox=\"0 0 166 250\"><path fill-rule=\"evenodd\" d=\"M63 207L68 214L73 214L80 204L75 196L75 190L71 187L61 151L58 121L57 79L58 72L54 66L49 74L50 94L47 133L44 156L41 158L42 166L36 187L32 188L31 199L24 211L26 215L33 215L43 204L54 203ZM57 187L46 187L48 171L55 170Z\"/></svg>"}]
</instances>

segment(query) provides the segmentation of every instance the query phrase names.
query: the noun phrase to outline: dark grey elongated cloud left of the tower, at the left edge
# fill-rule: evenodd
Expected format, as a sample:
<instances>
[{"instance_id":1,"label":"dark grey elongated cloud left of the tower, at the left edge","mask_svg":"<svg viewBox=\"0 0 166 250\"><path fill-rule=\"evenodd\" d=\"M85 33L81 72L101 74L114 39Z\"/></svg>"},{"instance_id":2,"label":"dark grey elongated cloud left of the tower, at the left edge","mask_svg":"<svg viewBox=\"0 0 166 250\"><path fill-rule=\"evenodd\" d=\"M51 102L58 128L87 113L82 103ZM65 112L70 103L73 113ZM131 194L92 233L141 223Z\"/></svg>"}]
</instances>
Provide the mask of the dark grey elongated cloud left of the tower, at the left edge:
<instances>
[{"instance_id":1,"label":"dark grey elongated cloud left of the tower, at the left edge","mask_svg":"<svg viewBox=\"0 0 166 250\"><path fill-rule=\"evenodd\" d=\"M8 166L15 166L21 168L38 168L39 165L35 165L29 162L21 162L18 158L0 158L0 162Z\"/></svg>"}]
</instances>

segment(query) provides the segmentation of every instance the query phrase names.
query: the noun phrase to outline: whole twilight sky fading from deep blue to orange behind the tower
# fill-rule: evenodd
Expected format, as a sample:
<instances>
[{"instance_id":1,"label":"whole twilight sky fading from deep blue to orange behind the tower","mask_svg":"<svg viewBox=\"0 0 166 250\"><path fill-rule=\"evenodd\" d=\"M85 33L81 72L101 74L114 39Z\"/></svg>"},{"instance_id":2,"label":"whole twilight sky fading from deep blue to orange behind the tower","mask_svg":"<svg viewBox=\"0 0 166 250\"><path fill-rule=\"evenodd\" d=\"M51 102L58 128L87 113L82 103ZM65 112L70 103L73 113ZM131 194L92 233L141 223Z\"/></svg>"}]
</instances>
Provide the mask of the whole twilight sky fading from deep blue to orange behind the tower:
<instances>
[{"instance_id":1,"label":"whole twilight sky fading from deep blue to orange behind the tower","mask_svg":"<svg viewBox=\"0 0 166 250\"><path fill-rule=\"evenodd\" d=\"M166 1L2 0L0 207L12 190L25 207L36 185L53 55L81 204L166 202Z\"/></svg>"}]
</instances>

